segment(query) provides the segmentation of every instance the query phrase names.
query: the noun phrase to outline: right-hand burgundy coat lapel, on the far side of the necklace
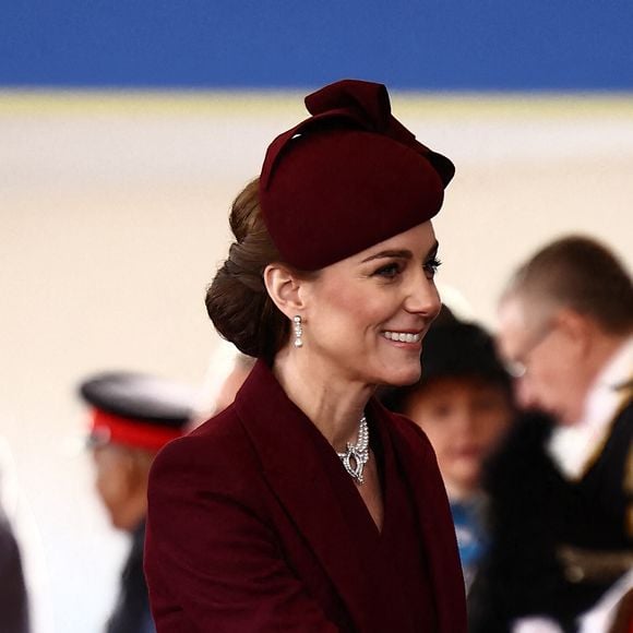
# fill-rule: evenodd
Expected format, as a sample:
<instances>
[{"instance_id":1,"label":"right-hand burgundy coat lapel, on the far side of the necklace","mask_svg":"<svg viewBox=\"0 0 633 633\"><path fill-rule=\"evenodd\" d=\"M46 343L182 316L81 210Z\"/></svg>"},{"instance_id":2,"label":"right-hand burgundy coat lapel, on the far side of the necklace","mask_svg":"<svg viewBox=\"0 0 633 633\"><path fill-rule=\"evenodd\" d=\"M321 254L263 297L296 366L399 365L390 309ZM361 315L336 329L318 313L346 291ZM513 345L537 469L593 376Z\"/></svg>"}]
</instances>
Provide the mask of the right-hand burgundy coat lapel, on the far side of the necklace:
<instances>
[{"instance_id":1,"label":"right-hand burgundy coat lapel, on the far side of the necklace","mask_svg":"<svg viewBox=\"0 0 633 633\"><path fill-rule=\"evenodd\" d=\"M423 441L419 437L421 431L408 420L394 419L373 399L370 401L369 413L389 430L396 461L408 482L420 539L429 561L439 631L465 633L466 598L455 527L431 445L425 435L428 453L420 455L420 450L414 446L419 446Z\"/></svg>"}]
</instances>

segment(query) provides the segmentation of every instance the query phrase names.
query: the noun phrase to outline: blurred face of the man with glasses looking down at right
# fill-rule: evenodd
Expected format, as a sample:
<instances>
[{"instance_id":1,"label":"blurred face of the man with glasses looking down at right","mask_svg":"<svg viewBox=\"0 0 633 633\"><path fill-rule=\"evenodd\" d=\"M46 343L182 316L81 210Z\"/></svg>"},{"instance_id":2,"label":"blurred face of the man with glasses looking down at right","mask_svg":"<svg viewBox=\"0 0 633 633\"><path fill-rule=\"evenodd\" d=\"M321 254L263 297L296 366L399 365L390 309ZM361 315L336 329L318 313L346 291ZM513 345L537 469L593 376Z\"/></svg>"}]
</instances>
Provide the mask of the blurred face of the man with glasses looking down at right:
<instances>
[{"instance_id":1,"label":"blurred face of the man with glasses looking down at right","mask_svg":"<svg viewBox=\"0 0 633 633\"><path fill-rule=\"evenodd\" d=\"M580 346L560 309L528 308L521 297L505 299L499 310L498 343L502 357L515 369L523 407L551 414L563 425L580 419L586 377Z\"/></svg>"}]
</instances>

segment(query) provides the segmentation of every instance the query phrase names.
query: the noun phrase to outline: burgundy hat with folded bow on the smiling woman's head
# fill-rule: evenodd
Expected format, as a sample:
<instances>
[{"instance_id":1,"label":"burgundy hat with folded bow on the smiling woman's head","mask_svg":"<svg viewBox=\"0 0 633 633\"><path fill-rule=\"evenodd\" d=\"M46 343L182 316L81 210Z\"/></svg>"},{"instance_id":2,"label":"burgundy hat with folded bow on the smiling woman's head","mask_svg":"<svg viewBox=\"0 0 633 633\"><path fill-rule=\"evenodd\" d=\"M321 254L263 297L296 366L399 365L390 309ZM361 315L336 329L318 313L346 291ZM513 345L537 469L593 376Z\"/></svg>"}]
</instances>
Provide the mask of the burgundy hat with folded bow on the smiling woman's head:
<instances>
[{"instance_id":1,"label":"burgundy hat with folded bow on the smiling woman's head","mask_svg":"<svg viewBox=\"0 0 633 633\"><path fill-rule=\"evenodd\" d=\"M455 167L391 114L386 87L344 80L264 159L264 223L287 263L314 271L433 217Z\"/></svg>"}]
</instances>

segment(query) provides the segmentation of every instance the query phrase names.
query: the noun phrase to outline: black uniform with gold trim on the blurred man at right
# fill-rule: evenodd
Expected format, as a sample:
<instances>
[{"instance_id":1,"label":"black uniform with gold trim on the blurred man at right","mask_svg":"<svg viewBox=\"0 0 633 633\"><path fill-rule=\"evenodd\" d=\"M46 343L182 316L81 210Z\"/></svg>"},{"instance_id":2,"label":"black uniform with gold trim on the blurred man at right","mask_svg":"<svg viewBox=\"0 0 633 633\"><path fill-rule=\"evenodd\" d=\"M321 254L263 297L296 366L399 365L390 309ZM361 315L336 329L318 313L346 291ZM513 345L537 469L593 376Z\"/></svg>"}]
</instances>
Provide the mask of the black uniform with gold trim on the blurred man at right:
<instances>
[{"instance_id":1,"label":"black uniform with gold trim on the blurred man at right","mask_svg":"<svg viewBox=\"0 0 633 633\"><path fill-rule=\"evenodd\" d=\"M513 619L537 614L573 632L630 564L633 398L577 481L546 451L552 428L527 416L489 465L492 547L469 595L471 633L505 633Z\"/></svg>"}]
</instances>

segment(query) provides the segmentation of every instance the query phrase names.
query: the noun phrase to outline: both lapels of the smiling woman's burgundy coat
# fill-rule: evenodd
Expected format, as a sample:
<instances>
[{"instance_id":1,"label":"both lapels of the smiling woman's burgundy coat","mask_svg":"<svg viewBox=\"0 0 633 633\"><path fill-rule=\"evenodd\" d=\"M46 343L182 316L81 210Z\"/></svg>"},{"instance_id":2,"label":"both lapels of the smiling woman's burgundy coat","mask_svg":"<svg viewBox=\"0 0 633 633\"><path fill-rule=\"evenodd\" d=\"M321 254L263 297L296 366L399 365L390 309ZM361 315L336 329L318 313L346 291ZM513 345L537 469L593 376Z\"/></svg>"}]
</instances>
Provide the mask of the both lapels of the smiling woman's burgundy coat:
<instances>
[{"instance_id":1,"label":"both lapels of the smiling woman's burgundy coat","mask_svg":"<svg viewBox=\"0 0 633 633\"><path fill-rule=\"evenodd\" d=\"M355 535L346 523L341 506L332 500L339 491L324 476L338 468L338 457L321 432L286 396L268 367L258 361L236 397L236 411L260 456L264 477L288 516L312 547L323 568L338 589L361 631L371 631L368 609L368 578L359 573L363 561L353 547ZM368 414L391 442L404 478L409 482L409 499L415 505L420 537L427 547L431 584L441 633L466 631L464 584L455 532L449 502L434 456L429 445L429 459L421 461L408 441L420 433L417 428L398 432L392 416L375 401ZM406 422L411 426L410 422ZM402 425L398 425L401 428ZM408 429L407 429L408 430ZM271 441L275 435L277 439ZM428 444L428 442L427 442ZM410 482L415 481L415 486ZM333 535L335 537L333 538Z\"/></svg>"}]
</instances>

